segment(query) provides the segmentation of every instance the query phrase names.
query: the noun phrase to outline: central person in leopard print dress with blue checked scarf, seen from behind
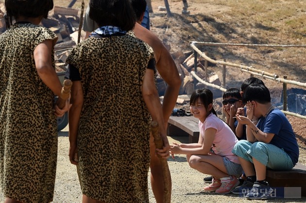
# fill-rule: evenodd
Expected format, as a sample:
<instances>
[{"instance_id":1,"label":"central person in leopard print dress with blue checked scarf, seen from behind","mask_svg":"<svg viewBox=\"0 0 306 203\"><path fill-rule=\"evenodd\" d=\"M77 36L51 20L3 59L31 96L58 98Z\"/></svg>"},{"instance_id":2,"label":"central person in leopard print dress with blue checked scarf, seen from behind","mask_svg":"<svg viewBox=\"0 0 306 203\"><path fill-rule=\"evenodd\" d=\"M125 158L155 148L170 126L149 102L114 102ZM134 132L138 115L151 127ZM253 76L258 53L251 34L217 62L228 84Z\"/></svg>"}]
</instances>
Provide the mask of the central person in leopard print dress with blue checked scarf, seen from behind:
<instances>
[{"instance_id":1,"label":"central person in leopard print dress with blue checked scarf, seen from behind","mask_svg":"<svg viewBox=\"0 0 306 203\"><path fill-rule=\"evenodd\" d=\"M89 6L100 28L66 61L73 81L70 162L79 165L83 202L146 203L150 115L164 141L158 154L169 157L154 53L127 34L136 23L130 0L91 0Z\"/></svg>"}]
</instances>

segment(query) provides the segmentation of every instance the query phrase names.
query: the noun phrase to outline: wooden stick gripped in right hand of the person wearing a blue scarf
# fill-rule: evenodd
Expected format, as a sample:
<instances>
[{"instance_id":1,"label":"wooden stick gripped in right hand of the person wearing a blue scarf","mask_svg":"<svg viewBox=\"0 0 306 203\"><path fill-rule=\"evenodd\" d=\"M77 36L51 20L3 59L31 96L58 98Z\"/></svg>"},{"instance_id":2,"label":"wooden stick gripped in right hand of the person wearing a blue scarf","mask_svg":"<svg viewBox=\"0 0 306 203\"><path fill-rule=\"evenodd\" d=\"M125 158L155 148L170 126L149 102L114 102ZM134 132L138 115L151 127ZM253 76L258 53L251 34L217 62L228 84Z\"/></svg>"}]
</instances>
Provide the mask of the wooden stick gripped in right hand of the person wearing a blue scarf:
<instances>
[{"instance_id":1,"label":"wooden stick gripped in right hand of the person wearing a blue scarf","mask_svg":"<svg viewBox=\"0 0 306 203\"><path fill-rule=\"evenodd\" d=\"M164 146L164 143L158 132L158 123L156 121L151 122L151 131L154 137L154 143L155 143L156 149L162 149ZM170 171L168 167L168 162L167 162L167 159L161 158L160 156L158 157L161 162L162 170L163 170L164 203L170 203L171 202L171 176L170 176Z\"/></svg>"}]
</instances>

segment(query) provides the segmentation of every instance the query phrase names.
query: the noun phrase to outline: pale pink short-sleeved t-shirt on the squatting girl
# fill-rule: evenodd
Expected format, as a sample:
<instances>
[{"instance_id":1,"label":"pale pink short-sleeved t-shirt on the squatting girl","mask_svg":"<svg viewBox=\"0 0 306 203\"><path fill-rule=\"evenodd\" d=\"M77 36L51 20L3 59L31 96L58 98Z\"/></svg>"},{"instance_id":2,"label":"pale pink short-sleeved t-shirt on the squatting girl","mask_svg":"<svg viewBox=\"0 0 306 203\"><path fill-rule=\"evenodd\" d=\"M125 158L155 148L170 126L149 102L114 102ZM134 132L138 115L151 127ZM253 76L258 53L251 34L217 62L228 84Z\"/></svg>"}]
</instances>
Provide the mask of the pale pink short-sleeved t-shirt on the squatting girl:
<instances>
[{"instance_id":1,"label":"pale pink short-sleeved t-shirt on the squatting girl","mask_svg":"<svg viewBox=\"0 0 306 203\"><path fill-rule=\"evenodd\" d=\"M219 156L226 156L230 161L240 164L238 156L232 153L232 149L234 148L236 142L238 142L238 139L231 128L213 113L210 113L207 116L204 123L199 121L199 129L203 138L205 136L205 129L208 128L214 128L217 130L212 144L212 150L215 152L215 154Z\"/></svg>"}]
</instances>

